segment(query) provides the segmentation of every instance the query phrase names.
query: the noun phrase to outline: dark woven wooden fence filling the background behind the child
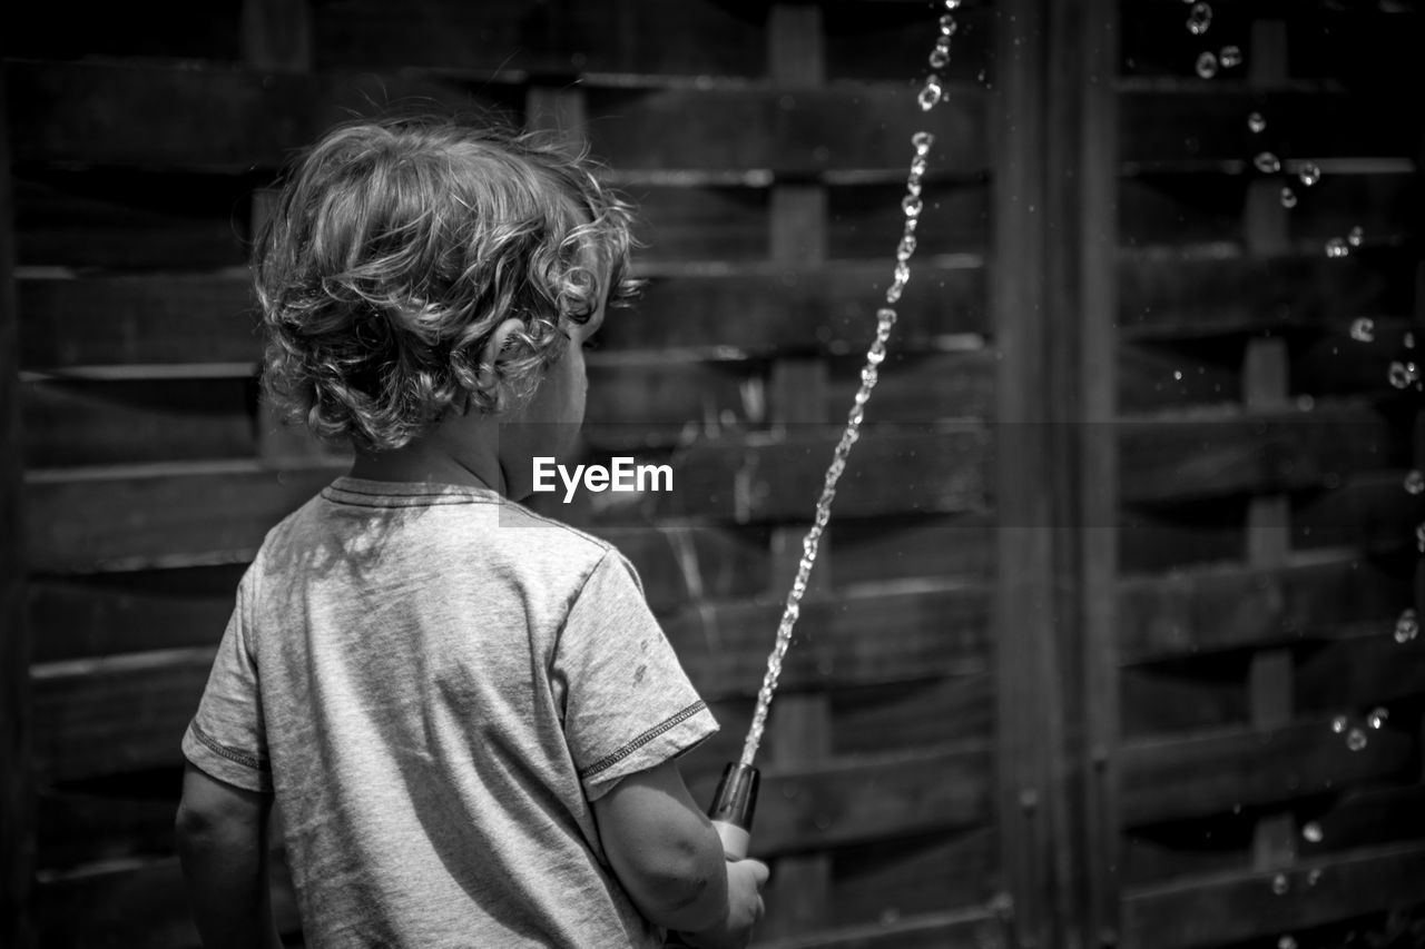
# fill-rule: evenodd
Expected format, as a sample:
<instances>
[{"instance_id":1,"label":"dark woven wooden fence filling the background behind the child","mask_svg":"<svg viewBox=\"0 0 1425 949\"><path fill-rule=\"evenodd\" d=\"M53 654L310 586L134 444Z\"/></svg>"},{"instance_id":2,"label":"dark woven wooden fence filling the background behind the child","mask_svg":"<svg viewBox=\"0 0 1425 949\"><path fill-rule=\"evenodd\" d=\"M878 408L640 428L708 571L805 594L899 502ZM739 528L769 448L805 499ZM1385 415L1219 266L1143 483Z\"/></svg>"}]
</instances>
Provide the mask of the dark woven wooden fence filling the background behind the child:
<instances>
[{"instance_id":1,"label":"dark woven wooden fence filling the background behind the child","mask_svg":"<svg viewBox=\"0 0 1425 949\"><path fill-rule=\"evenodd\" d=\"M935 6L145 0L7 33L43 945L194 942L178 737L262 533L341 470L256 408L247 244L292 148L413 100L583 131L643 207L589 455L675 490L542 506L636 560L712 701L700 798L936 134L760 759L762 945L1305 946L1419 899L1425 641L1391 631L1425 459L1385 375L1422 316L1419 16L966 3L922 114ZM1291 211L1267 142L1324 170Z\"/></svg>"}]
</instances>

